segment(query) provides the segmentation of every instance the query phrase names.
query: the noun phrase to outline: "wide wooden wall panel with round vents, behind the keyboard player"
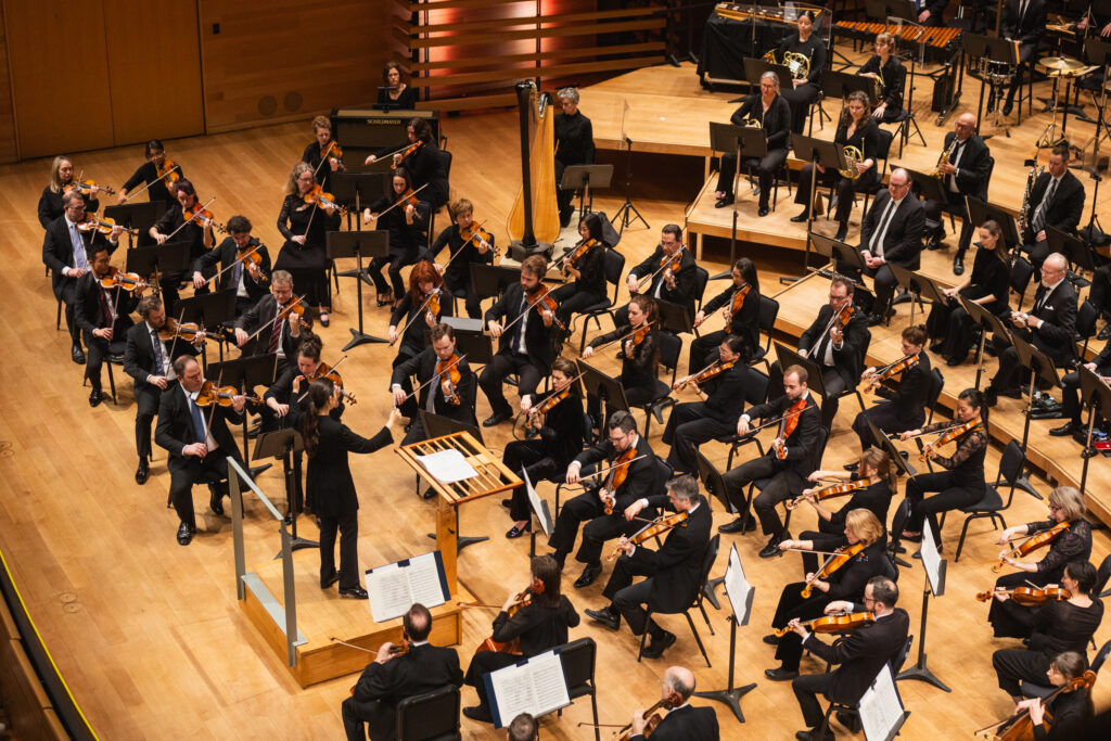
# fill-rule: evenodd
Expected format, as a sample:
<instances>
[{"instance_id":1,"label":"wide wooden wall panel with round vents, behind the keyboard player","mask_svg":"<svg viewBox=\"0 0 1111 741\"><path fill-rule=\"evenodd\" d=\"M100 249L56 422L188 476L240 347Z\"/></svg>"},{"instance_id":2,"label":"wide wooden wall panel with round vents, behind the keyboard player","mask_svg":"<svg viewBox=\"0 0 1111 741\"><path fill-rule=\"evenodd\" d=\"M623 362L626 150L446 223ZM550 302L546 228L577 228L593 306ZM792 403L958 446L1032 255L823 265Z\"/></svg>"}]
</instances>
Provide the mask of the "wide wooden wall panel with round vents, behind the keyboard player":
<instances>
[{"instance_id":1,"label":"wide wooden wall panel with round vents, behind the keyboard player","mask_svg":"<svg viewBox=\"0 0 1111 741\"><path fill-rule=\"evenodd\" d=\"M199 0L208 131L372 102L388 12L386 0Z\"/></svg>"}]
</instances>

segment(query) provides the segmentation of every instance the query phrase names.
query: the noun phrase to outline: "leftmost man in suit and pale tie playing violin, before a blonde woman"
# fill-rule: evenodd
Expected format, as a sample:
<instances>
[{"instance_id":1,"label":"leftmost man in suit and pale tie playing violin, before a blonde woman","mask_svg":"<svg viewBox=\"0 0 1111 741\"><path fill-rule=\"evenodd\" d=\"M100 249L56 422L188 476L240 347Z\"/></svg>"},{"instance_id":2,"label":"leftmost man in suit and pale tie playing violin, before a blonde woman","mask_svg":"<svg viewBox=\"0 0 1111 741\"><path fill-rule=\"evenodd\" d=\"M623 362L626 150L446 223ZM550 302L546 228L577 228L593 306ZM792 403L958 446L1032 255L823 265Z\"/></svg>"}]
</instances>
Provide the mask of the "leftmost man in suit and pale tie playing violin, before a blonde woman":
<instances>
[{"instance_id":1,"label":"leftmost man in suit and pale tie playing violin, before a blonde woman","mask_svg":"<svg viewBox=\"0 0 1111 741\"><path fill-rule=\"evenodd\" d=\"M66 306L66 327L69 329L70 357L79 366L84 364L81 350L81 330L73 321L77 307L77 282L89 272L89 248L103 237L96 230L80 231L77 224L84 221L84 198L74 188L62 197L66 209L61 217L47 224L42 238L42 262L50 269L50 283L54 298ZM116 250L123 228L116 226L108 234L109 252Z\"/></svg>"}]
</instances>

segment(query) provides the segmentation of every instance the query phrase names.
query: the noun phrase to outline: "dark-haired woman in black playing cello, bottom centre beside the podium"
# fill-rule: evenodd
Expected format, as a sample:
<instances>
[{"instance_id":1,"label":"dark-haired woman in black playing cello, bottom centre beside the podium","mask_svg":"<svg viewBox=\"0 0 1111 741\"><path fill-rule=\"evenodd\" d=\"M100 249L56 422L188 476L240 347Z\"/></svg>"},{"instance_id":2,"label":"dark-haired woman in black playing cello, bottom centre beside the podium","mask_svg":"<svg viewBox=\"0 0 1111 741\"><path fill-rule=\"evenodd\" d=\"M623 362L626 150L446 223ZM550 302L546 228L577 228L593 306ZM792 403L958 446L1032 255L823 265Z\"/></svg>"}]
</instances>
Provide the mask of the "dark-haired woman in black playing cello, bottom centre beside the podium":
<instances>
[{"instance_id":1,"label":"dark-haired woman in black playing cello, bottom centre beside the podium","mask_svg":"<svg viewBox=\"0 0 1111 741\"><path fill-rule=\"evenodd\" d=\"M479 651L467 668L463 683L473 687L479 695L478 705L463 708L463 714L471 720L493 722L486 691L487 674L563 645L568 642L568 629L579 624L579 613L571 600L560 593L561 573L556 559L536 557L530 560L529 571L532 585L527 590L528 601L520 604L520 593L510 592L493 619L491 637L498 643L518 641L521 652Z\"/></svg>"}]
</instances>

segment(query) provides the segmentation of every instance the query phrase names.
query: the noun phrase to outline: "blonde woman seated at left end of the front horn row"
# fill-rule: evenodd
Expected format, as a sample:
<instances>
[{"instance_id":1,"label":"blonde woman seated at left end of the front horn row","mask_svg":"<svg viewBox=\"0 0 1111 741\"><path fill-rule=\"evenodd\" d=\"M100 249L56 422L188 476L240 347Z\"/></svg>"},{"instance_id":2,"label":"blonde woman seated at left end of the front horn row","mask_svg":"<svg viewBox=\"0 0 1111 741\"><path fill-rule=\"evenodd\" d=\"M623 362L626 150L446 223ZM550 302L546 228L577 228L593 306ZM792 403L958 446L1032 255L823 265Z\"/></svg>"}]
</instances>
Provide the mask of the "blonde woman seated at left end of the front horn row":
<instances>
[{"instance_id":1,"label":"blonde woman seated at left end of the front horn row","mask_svg":"<svg viewBox=\"0 0 1111 741\"><path fill-rule=\"evenodd\" d=\"M734 126L747 126L748 121L757 121L763 129L768 143L768 153L762 158L750 157L743 164L754 168L760 181L760 201L757 213L768 216L768 203L771 198L772 178L775 171L787 161L787 150L791 137L791 107L787 99L779 94L779 74L764 72L760 76L760 92L744 98L741 107L733 111L730 122ZM714 197L717 208L724 208L733 202L733 180L737 173L737 152L723 152L721 156L721 173L718 176L718 188Z\"/></svg>"}]
</instances>

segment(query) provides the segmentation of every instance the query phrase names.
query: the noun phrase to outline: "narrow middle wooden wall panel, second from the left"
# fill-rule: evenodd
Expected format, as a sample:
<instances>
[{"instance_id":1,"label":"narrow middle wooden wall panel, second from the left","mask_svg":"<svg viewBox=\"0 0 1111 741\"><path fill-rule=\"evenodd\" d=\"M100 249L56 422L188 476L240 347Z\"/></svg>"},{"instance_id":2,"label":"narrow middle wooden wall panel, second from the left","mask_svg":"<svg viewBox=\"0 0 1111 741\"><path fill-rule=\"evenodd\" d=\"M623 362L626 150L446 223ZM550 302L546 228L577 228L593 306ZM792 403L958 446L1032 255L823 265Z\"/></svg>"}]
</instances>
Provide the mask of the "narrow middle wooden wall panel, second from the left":
<instances>
[{"instance_id":1,"label":"narrow middle wooden wall panel, second from the left","mask_svg":"<svg viewBox=\"0 0 1111 741\"><path fill-rule=\"evenodd\" d=\"M196 0L104 0L114 143L204 132Z\"/></svg>"}]
</instances>

